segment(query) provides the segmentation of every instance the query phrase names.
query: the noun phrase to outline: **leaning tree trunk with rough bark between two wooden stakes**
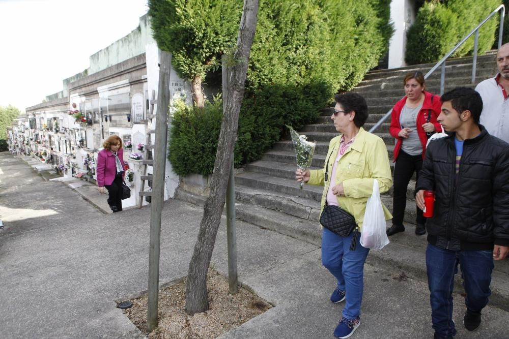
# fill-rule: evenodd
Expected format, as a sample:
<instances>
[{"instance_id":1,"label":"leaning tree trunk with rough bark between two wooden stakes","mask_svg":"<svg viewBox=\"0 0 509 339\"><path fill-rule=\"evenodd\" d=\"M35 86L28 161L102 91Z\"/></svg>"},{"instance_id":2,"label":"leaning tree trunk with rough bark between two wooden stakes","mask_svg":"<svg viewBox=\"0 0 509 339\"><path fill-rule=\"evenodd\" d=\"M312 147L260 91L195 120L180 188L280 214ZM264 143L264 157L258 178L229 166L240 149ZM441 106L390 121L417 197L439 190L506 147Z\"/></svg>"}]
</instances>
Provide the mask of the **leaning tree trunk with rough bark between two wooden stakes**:
<instances>
[{"instance_id":1,"label":"leaning tree trunk with rough bark between two wooden stakes","mask_svg":"<svg viewBox=\"0 0 509 339\"><path fill-rule=\"evenodd\" d=\"M249 53L254 31L256 30L257 17L258 0L244 0L244 9L237 38L237 50L235 55L232 56L233 60L237 61L232 66L227 102L224 103L226 109L221 122L221 132L219 133L216 160L210 184L210 195L205 203L200 232L189 263L185 310L190 315L205 312L209 309L207 270L224 208L233 149L237 141L237 127L240 106L244 96Z\"/></svg>"}]
</instances>

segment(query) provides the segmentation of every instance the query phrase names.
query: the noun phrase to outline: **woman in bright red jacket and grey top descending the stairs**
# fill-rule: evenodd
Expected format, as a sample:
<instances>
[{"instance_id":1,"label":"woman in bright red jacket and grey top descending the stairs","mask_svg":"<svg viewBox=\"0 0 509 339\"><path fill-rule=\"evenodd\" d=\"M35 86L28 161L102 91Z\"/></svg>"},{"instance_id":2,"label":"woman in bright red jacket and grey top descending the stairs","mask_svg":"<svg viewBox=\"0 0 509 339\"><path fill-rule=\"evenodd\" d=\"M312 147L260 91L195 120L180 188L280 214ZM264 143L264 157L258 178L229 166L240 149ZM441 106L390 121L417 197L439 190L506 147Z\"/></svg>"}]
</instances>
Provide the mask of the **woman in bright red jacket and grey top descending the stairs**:
<instances>
[{"instance_id":1,"label":"woman in bright red jacket and grey top descending the stairs","mask_svg":"<svg viewBox=\"0 0 509 339\"><path fill-rule=\"evenodd\" d=\"M405 97L392 108L390 134L397 139L394 146L394 193L392 226L387 235L405 231L403 217L407 204L407 187L413 173L419 177L429 136L440 131L437 117L442 104L440 97L425 90L421 72L408 73L403 80ZM417 207L415 234L426 233L426 219Z\"/></svg>"}]
</instances>

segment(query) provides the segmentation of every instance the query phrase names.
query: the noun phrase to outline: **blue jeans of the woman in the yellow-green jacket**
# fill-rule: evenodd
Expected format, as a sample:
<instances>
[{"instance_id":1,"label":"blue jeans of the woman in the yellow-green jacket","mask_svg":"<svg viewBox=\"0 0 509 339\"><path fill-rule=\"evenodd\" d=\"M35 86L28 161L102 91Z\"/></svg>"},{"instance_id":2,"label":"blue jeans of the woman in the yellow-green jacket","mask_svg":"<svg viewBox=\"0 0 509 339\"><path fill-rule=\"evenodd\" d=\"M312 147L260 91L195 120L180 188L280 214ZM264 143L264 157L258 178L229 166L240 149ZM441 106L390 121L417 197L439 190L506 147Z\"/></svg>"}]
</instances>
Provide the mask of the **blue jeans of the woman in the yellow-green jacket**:
<instances>
[{"instance_id":1,"label":"blue jeans of the woman in the yellow-green jacket","mask_svg":"<svg viewBox=\"0 0 509 339\"><path fill-rule=\"evenodd\" d=\"M341 237L324 228L322 232L322 264L334 275L337 288L346 291L346 304L343 317L355 319L360 315L362 292L364 289L364 262L370 249L359 243L357 237L355 251L350 251L353 232Z\"/></svg>"}]
</instances>

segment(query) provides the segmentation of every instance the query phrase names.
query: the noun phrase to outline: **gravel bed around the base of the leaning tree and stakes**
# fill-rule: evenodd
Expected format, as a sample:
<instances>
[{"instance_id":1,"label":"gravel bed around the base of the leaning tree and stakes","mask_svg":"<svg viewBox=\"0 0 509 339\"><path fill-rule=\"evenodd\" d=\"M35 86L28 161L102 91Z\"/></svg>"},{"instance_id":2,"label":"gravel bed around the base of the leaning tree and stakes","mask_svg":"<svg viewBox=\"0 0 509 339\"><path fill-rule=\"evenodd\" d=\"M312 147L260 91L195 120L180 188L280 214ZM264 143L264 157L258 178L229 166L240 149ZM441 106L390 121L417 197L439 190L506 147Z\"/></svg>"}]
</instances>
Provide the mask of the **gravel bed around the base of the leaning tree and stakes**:
<instances>
[{"instance_id":1,"label":"gravel bed around the base of the leaning tree and stakes","mask_svg":"<svg viewBox=\"0 0 509 339\"><path fill-rule=\"evenodd\" d=\"M131 322L149 338L216 338L272 307L272 305L240 287L237 294L228 292L228 279L209 269L207 291L210 309L189 316L184 310L186 279L159 291L158 327L147 330L147 295L131 300L124 310Z\"/></svg>"}]
</instances>

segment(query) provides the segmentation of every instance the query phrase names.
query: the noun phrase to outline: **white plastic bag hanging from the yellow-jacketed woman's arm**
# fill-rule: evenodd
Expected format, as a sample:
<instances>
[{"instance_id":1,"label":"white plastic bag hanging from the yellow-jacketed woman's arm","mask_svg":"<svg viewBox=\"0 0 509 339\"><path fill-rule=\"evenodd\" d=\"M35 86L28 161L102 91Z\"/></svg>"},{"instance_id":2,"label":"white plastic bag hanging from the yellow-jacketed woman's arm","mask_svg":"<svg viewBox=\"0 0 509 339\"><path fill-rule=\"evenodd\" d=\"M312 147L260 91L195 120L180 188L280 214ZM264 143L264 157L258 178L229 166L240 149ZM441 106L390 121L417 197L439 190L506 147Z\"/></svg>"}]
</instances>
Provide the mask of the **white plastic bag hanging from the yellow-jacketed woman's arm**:
<instances>
[{"instance_id":1,"label":"white plastic bag hanging from the yellow-jacketed woman's arm","mask_svg":"<svg viewBox=\"0 0 509 339\"><path fill-rule=\"evenodd\" d=\"M380 200L378 180L373 181L373 194L367 199L360 244L367 249L380 250L389 243L389 238L385 231L385 215Z\"/></svg>"}]
</instances>

